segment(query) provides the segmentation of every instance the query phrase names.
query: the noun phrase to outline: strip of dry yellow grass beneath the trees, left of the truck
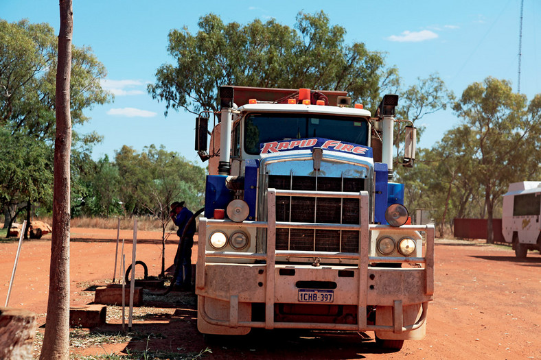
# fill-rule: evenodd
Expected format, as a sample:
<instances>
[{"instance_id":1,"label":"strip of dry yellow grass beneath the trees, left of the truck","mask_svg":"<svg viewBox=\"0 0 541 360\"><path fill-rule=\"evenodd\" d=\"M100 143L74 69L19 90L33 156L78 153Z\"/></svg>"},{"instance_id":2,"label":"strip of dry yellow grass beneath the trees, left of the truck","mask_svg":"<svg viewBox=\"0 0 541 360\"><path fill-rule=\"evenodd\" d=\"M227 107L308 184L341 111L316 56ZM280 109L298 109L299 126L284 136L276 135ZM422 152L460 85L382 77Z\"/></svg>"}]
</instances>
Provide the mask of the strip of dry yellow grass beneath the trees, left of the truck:
<instances>
[{"instance_id":1,"label":"strip of dry yellow grass beneath the trees, left of the truck","mask_svg":"<svg viewBox=\"0 0 541 360\"><path fill-rule=\"evenodd\" d=\"M71 219L71 226L73 228L116 229L118 226L118 219L119 218L117 217L75 217ZM47 224L53 223L51 217L40 217L36 220L43 221ZM133 229L133 218L121 217L120 228L122 230ZM161 230L161 222L150 217L138 217L137 228L142 231L157 231ZM176 226L170 221L165 230L176 231Z\"/></svg>"}]
</instances>

